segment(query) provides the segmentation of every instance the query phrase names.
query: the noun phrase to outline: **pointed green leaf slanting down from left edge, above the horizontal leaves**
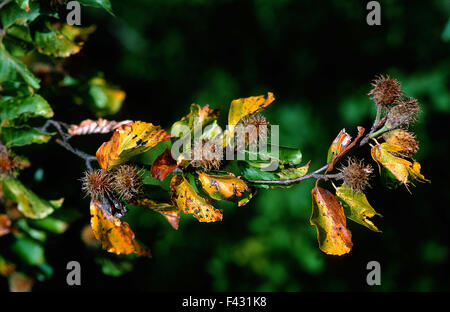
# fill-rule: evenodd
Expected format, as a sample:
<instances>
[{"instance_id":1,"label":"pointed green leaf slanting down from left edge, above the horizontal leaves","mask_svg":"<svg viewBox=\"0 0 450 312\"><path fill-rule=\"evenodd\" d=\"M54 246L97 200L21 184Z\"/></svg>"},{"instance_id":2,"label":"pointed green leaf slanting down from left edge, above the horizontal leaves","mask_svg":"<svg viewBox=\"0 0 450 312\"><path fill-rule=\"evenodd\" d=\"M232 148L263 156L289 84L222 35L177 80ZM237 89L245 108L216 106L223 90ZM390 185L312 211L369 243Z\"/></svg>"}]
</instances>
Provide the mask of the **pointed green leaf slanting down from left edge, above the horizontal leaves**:
<instances>
[{"instance_id":1,"label":"pointed green leaf slanting down from left edge, above the horizontal leaves","mask_svg":"<svg viewBox=\"0 0 450 312\"><path fill-rule=\"evenodd\" d=\"M39 89L40 80L28 70L25 64L6 51L3 43L0 42L0 83L16 81L19 77L32 88Z\"/></svg>"}]
</instances>

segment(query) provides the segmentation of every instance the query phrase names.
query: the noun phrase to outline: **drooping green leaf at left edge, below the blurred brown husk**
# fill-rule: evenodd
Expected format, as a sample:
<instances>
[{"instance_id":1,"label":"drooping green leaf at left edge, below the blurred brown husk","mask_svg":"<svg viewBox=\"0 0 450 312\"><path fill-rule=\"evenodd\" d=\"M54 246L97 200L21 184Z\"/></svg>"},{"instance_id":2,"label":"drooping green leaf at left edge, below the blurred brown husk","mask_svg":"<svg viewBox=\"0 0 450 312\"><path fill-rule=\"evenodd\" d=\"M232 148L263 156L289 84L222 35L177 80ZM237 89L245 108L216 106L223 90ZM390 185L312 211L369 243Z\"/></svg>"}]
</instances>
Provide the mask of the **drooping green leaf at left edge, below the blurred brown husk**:
<instances>
[{"instance_id":1,"label":"drooping green leaf at left edge, below the blurred brown husk","mask_svg":"<svg viewBox=\"0 0 450 312\"><path fill-rule=\"evenodd\" d=\"M5 197L17 202L17 208L27 218L42 219L58 208L54 201L41 199L14 177L3 177L2 187Z\"/></svg>"}]
</instances>

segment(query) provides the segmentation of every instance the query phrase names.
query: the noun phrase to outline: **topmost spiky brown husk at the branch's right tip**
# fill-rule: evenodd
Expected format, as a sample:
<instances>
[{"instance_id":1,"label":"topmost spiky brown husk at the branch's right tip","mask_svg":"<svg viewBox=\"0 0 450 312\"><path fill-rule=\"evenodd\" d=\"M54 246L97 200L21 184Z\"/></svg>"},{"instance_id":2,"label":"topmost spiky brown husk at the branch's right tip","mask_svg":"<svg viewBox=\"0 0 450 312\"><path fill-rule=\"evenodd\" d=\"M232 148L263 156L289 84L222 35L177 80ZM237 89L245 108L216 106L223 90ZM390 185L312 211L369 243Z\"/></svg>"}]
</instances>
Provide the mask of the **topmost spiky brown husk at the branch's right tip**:
<instances>
[{"instance_id":1,"label":"topmost spiky brown husk at the branch's right tip","mask_svg":"<svg viewBox=\"0 0 450 312\"><path fill-rule=\"evenodd\" d=\"M397 79L391 79L389 76L378 76L372 83L372 90L368 95L378 106L390 108L402 96L402 86Z\"/></svg>"}]
</instances>

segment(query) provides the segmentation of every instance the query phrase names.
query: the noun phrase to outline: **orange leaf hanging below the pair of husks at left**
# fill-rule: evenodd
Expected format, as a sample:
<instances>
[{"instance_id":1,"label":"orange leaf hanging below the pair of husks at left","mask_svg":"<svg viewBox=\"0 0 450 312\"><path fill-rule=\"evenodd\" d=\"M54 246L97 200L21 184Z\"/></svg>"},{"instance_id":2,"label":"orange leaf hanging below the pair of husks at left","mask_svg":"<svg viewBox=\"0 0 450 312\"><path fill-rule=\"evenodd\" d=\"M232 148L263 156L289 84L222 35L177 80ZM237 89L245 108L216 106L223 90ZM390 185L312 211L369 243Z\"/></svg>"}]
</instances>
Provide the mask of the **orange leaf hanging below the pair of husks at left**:
<instances>
[{"instance_id":1,"label":"orange leaf hanging below the pair of husks at left","mask_svg":"<svg viewBox=\"0 0 450 312\"><path fill-rule=\"evenodd\" d=\"M91 201L90 209L91 227L103 249L115 254L136 253L138 256L151 257L150 250L135 240L134 232L127 222L105 213L96 200Z\"/></svg>"}]
</instances>

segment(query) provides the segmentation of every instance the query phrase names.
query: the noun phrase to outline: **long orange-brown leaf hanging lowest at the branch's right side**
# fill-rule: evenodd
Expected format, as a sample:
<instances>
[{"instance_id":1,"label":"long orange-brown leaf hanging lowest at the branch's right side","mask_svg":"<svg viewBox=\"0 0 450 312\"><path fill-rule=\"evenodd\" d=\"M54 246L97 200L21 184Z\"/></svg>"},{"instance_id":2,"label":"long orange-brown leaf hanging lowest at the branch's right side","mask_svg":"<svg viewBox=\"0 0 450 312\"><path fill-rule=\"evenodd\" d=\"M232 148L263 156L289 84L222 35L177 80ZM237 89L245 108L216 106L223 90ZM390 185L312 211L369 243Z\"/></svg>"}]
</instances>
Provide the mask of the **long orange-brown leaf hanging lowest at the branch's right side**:
<instances>
[{"instance_id":1,"label":"long orange-brown leaf hanging lowest at the branch's right side","mask_svg":"<svg viewBox=\"0 0 450 312\"><path fill-rule=\"evenodd\" d=\"M317 228L320 250L338 256L349 253L353 243L344 208L332 193L319 186L314 187L311 193L313 210L310 222Z\"/></svg>"}]
</instances>

